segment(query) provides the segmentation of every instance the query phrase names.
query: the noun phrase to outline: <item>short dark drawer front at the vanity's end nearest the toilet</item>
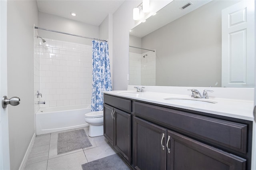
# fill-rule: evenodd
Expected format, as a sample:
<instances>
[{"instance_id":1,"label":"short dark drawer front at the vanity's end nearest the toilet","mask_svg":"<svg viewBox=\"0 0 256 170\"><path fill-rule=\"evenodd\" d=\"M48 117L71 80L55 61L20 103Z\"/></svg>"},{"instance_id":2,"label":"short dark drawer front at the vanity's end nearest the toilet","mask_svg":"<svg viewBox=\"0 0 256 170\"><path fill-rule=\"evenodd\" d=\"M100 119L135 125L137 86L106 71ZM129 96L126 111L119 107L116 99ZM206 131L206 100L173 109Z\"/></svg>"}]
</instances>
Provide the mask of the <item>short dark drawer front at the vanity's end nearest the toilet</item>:
<instances>
[{"instance_id":1,"label":"short dark drawer front at the vanity's end nearest the toilet","mask_svg":"<svg viewBox=\"0 0 256 170\"><path fill-rule=\"evenodd\" d=\"M126 112L132 112L132 101L128 99L104 94L104 103Z\"/></svg>"}]
</instances>

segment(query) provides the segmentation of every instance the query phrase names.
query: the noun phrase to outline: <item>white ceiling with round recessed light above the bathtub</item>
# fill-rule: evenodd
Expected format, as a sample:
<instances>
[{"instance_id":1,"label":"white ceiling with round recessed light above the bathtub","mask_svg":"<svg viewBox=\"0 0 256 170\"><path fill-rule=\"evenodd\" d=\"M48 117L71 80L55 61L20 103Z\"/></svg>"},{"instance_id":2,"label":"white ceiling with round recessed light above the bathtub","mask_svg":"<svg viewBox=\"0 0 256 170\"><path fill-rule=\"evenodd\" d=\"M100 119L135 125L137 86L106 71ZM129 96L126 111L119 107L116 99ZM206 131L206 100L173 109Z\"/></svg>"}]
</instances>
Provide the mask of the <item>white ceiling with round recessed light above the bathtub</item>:
<instances>
[{"instance_id":1,"label":"white ceiling with round recessed light above the bathtub","mask_svg":"<svg viewBox=\"0 0 256 170\"><path fill-rule=\"evenodd\" d=\"M124 0L37 0L40 12L99 26ZM71 16L75 12L77 16Z\"/></svg>"}]
</instances>

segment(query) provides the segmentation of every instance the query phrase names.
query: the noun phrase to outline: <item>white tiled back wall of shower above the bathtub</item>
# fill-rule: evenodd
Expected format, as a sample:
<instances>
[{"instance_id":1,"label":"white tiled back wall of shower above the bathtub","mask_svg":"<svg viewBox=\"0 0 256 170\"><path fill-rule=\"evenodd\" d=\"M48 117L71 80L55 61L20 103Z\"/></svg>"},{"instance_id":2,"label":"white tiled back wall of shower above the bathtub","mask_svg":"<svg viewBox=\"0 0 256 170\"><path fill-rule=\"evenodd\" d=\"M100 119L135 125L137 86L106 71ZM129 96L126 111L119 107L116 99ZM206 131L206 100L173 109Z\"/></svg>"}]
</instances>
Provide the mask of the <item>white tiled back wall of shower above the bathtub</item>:
<instances>
[{"instance_id":1,"label":"white tiled back wall of shower above the bathtub","mask_svg":"<svg viewBox=\"0 0 256 170\"><path fill-rule=\"evenodd\" d=\"M45 105L56 107L90 104L92 46L46 39L40 42L40 93Z\"/></svg>"}]
</instances>

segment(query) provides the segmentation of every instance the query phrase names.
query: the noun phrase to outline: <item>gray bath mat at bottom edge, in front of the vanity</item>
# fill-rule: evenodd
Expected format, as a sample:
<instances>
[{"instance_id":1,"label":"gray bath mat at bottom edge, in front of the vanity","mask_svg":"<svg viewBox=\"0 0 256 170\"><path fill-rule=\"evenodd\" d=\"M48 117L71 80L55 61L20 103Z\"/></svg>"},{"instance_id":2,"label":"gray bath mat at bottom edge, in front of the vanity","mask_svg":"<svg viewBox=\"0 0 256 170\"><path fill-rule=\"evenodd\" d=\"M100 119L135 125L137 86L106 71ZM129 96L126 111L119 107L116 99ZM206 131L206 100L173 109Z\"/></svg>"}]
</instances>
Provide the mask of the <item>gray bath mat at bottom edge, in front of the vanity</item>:
<instances>
[{"instance_id":1,"label":"gray bath mat at bottom edge, in front of the vanity","mask_svg":"<svg viewBox=\"0 0 256 170\"><path fill-rule=\"evenodd\" d=\"M132 170L118 154L82 164L83 170Z\"/></svg>"}]
</instances>

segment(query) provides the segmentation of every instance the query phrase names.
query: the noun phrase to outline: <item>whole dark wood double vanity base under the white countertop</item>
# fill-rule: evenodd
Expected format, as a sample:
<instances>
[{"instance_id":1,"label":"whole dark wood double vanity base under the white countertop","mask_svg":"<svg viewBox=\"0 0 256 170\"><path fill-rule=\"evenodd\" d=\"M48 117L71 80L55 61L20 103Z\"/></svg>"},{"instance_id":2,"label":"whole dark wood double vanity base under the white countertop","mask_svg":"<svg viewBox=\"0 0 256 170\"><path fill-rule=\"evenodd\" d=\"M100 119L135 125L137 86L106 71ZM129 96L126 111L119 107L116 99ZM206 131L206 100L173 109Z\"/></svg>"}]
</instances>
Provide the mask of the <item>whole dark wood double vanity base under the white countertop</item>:
<instances>
[{"instance_id":1,"label":"whole dark wood double vanity base under the white countertop","mask_svg":"<svg viewBox=\"0 0 256 170\"><path fill-rule=\"evenodd\" d=\"M252 121L104 94L104 136L137 170L250 170Z\"/></svg>"}]
</instances>

